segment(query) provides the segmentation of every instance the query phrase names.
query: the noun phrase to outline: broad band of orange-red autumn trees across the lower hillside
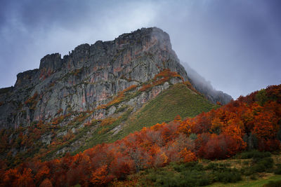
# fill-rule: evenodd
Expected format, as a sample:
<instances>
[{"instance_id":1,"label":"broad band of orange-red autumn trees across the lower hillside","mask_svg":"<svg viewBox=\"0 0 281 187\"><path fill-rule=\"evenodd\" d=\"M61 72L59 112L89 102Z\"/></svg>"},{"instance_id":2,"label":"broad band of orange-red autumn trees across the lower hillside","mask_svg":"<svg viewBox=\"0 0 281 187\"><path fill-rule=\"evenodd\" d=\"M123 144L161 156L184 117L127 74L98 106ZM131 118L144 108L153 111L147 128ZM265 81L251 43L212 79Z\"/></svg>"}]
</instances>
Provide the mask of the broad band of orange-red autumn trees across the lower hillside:
<instances>
[{"instance_id":1,"label":"broad band of orange-red autumn trees across the lower hillside","mask_svg":"<svg viewBox=\"0 0 281 187\"><path fill-rule=\"evenodd\" d=\"M116 179L126 179L133 172L164 167L169 162L224 159L251 148L275 151L280 148L281 85L260 92L195 118L183 120L176 116L171 123L144 127L124 139L99 144L77 155L1 169L0 183L105 186Z\"/></svg>"}]
</instances>

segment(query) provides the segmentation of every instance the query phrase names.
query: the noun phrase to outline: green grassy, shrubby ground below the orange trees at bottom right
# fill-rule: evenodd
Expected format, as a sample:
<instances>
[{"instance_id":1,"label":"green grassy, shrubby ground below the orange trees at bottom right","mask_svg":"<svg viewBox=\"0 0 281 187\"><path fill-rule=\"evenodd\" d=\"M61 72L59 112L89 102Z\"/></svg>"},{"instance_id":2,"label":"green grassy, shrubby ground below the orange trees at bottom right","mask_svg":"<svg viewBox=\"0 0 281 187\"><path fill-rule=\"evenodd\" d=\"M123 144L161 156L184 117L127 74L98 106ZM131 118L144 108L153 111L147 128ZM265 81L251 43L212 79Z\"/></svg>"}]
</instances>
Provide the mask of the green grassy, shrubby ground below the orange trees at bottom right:
<instances>
[{"instance_id":1,"label":"green grassy, shrubby ground below the orange trees at bottom right","mask_svg":"<svg viewBox=\"0 0 281 187\"><path fill-rule=\"evenodd\" d=\"M246 156L245 156L246 155ZM247 160L245 159L247 157ZM258 158L258 160L256 160ZM258 170L247 176L243 167L251 168L261 160L274 160L272 168ZM244 161L247 161L244 162ZM249 162L249 163L248 163ZM112 186L280 186L281 175L274 174L280 167L281 155L267 152L246 151L226 160L198 160L197 162L176 163L161 168L145 169L131 174L125 181L112 183ZM260 163L261 164L261 163ZM268 165L268 163L263 163Z\"/></svg>"}]
</instances>

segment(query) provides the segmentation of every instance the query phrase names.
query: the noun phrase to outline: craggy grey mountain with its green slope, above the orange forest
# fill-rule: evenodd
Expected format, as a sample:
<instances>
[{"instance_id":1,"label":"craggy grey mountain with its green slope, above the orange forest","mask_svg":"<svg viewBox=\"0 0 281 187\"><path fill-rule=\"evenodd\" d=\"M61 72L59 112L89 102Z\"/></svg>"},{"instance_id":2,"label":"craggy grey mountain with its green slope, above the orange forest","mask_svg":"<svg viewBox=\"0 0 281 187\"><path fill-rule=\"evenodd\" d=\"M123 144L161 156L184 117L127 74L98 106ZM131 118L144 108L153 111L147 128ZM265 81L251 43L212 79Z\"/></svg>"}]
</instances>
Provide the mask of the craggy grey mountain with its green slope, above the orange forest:
<instances>
[{"instance_id":1,"label":"craggy grey mountain with its green slope, above the orange forest","mask_svg":"<svg viewBox=\"0 0 281 187\"><path fill-rule=\"evenodd\" d=\"M0 89L0 159L13 166L79 153L218 107L219 98L192 83L169 35L156 27L82 44L63 58L46 55L39 69Z\"/></svg>"}]
</instances>

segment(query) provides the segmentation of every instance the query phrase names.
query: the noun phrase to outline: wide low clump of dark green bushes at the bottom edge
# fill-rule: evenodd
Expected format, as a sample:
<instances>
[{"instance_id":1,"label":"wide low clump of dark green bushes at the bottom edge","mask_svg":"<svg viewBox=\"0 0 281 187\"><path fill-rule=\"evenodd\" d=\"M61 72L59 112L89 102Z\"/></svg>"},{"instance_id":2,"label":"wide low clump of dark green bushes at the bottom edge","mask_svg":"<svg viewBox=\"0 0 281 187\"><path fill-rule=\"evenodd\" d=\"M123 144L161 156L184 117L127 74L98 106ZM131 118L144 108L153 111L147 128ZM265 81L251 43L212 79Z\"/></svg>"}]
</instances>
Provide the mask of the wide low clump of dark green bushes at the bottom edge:
<instances>
[{"instance_id":1,"label":"wide low clump of dark green bushes at the bottom edge","mask_svg":"<svg viewBox=\"0 0 281 187\"><path fill-rule=\"evenodd\" d=\"M198 162L170 163L169 168L146 170L143 186L207 186L214 182L235 183L241 172L229 164L210 162L204 167Z\"/></svg>"}]
</instances>

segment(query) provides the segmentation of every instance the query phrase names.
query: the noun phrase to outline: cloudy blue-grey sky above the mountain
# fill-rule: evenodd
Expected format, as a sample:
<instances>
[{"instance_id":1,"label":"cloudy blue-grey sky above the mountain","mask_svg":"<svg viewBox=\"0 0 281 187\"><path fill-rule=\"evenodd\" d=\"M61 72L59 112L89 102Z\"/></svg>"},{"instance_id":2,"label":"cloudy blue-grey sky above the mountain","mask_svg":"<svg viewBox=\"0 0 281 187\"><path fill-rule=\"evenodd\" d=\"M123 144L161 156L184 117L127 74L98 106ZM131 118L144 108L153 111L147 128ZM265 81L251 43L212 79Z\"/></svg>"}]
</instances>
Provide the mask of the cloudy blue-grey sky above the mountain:
<instances>
[{"instance_id":1,"label":"cloudy blue-grey sky above the mountain","mask_svg":"<svg viewBox=\"0 0 281 187\"><path fill-rule=\"evenodd\" d=\"M155 26L181 62L237 98L281 83L280 10L279 0L1 0L0 88L46 54Z\"/></svg>"}]
</instances>

